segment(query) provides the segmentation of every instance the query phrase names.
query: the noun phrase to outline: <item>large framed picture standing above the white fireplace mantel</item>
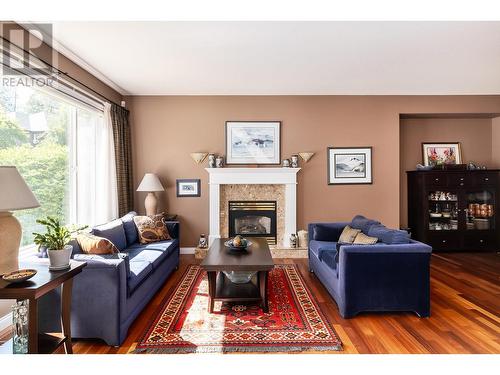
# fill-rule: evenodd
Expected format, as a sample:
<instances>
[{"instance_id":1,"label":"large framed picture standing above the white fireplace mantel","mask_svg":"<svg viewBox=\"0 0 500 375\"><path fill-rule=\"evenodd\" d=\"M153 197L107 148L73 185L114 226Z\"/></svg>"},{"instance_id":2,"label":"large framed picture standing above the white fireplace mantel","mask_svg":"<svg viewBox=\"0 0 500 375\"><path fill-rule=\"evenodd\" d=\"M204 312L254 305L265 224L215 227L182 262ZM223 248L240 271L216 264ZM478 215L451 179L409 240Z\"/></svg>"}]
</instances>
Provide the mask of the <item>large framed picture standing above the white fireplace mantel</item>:
<instances>
[{"instance_id":1,"label":"large framed picture standing above the white fireplace mantel","mask_svg":"<svg viewBox=\"0 0 500 375\"><path fill-rule=\"evenodd\" d=\"M280 164L280 121L227 121L226 164Z\"/></svg>"}]
</instances>

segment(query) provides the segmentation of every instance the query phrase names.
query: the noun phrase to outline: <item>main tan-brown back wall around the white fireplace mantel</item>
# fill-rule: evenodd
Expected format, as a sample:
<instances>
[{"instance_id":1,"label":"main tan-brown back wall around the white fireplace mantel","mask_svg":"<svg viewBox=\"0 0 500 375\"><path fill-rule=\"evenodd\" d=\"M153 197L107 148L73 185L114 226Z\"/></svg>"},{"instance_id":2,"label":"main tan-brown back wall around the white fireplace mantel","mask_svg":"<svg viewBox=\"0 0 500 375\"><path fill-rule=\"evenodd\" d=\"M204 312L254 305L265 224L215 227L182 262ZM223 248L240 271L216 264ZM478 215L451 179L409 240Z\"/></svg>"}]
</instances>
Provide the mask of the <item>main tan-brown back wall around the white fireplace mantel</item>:
<instances>
[{"instance_id":1,"label":"main tan-brown back wall around the white fireplace mantel","mask_svg":"<svg viewBox=\"0 0 500 375\"><path fill-rule=\"evenodd\" d=\"M131 111L135 186L145 172L167 187L160 206L180 215L182 246L208 232L205 165L193 151L224 153L227 120L282 121L282 155L314 151L298 176L298 229L316 220L349 220L355 214L397 227L400 222L401 113L500 112L500 96L139 96ZM328 186L327 146L372 146L373 185ZM420 157L420 152L418 153ZM175 179L200 178L200 198L176 198ZM143 193L136 209L144 212Z\"/></svg>"}]
</instances>

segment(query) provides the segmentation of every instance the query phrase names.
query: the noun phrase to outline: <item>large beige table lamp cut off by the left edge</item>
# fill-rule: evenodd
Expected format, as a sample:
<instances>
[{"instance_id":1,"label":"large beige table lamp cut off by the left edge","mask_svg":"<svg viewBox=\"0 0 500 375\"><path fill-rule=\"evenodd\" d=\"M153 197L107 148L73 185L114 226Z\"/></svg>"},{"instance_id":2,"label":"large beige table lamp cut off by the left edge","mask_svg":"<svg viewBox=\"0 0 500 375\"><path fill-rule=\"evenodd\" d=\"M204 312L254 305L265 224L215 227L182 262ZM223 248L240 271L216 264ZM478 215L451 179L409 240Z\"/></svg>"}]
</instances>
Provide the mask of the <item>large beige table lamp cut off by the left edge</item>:
<instances>
[{"instance_id":1,"label":"large beige table lamp cut off by the left edge","mask_svg":"<svg viewBox=\"0 0 500 375\"><path fill-rule=\"evenodd\" d=\"M0 275L19 269L21 224L11 211L40 207L16 167L0 166Z\"/></svg>"}]
</instances>

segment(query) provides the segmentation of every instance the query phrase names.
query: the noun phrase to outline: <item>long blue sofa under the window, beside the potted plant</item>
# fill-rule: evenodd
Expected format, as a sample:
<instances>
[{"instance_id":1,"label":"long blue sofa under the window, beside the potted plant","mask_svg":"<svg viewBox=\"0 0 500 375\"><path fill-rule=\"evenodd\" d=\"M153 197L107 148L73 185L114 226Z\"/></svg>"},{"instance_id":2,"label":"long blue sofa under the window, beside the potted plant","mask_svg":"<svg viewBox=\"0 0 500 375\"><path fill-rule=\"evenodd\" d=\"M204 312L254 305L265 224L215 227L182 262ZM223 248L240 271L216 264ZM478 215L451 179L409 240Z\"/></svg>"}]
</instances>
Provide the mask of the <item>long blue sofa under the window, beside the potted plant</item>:
<instances>
[{"instance_id":1,"label":"long blue sofa under the window, beside the potted plant","mask_svg":"<svg viewBox=\"0 0 500 375\"><path fill-rule=\"evenodd\" d=\"M72 258L87 262L73 282L74 338L101 338L108 345L120 345L137 315L178 268L179 222L165 222L172 240L142 245L133 222L135 215L131 212L92 229L93 234L112 241L119 254L83 254L76 241L71 243ZM50 293L40 304L45 317L40 325L48 331L58 325L58 312L53 306L59 294Z\"/></svg>"}]
</instances>

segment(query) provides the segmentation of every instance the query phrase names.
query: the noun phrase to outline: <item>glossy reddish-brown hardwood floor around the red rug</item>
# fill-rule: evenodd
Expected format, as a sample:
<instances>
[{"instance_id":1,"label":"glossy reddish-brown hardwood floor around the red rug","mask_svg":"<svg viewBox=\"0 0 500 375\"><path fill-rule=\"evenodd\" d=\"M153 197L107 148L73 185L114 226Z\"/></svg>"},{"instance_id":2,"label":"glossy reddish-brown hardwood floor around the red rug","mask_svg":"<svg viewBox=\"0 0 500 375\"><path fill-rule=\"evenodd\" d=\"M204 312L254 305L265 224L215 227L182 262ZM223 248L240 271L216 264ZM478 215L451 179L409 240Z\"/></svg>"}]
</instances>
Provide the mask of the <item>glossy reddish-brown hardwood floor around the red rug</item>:
<instances>
[{"instance_id":1,"label":"glossy reddish-brown hardwood floor around the red rug","mask_svg":"<svg viewBox=\"0 0 500 375\"><path fill-rule=\"evenodd\" d=\"M194 256L181 265L136 319L119 348L99 340L75 340L74 352L128 353L154 318L163 298L182 277ZM337 306L307 267L307 259L276 259L295 263L322 311L344 344L338 353L500 353L500 256L498 254L433 254L431 318L411 313L366 313L342 319Z\"/></svg>"}]
</instances>

